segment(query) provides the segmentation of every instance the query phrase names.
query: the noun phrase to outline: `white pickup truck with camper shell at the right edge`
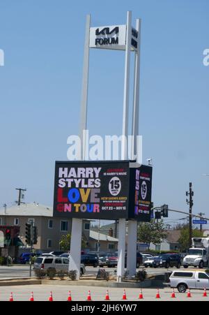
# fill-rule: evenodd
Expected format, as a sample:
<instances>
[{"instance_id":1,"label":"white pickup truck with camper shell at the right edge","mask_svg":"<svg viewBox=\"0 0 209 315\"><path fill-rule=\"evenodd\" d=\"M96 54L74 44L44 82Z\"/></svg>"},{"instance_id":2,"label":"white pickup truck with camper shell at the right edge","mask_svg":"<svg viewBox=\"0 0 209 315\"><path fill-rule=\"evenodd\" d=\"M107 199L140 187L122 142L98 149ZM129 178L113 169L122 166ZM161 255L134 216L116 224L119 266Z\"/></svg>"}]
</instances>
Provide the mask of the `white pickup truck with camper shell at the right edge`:
<instances>
[{"instance_id":1,"label":"white pickup truck with camper shell at the right edge","mask_svg":"<svg viewBox=\"0 0 209 315\"><path fill-rule=\"evenodd\" d=\"M169 277L171 288L185 293L187 288L209 289L209 274L203 271L173 271Z\"/></svg>"}]
</instances>

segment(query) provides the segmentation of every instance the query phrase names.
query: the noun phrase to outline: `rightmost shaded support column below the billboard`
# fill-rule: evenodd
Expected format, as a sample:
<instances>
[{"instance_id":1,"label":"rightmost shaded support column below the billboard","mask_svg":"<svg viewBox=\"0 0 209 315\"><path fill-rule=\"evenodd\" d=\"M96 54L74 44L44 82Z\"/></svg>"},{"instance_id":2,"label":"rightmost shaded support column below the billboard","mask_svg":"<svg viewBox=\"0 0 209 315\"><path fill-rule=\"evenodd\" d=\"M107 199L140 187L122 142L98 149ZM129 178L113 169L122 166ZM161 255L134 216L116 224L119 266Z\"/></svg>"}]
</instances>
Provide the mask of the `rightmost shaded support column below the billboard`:
<instances>
[{"instance_id":1,"label":"rightmost shaded support column below the billboard","mask_svg":"<svg viewBox=\"0 0 209 315\"><path fill-rule=\"evenodd\" d=\"M132 277L136 273L137 262L137 221L128 221L127 235L127 270Z\"/></svg>"}]
</instances>

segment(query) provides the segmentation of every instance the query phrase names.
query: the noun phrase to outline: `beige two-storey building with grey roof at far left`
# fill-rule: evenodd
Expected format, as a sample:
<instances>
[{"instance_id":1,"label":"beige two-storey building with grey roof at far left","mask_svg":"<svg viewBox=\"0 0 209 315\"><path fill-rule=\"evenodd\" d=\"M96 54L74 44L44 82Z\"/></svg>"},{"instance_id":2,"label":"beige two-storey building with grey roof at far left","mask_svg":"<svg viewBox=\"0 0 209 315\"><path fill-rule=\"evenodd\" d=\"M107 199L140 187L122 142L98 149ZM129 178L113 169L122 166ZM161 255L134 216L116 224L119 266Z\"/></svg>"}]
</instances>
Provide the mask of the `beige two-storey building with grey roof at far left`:
<instances>
[{"instance_id":1,"label":"beige two-storey building with grey roof at far left","mask_svg":"<svg viewBox=\"0 0 209 315\"><path fill-rule=\"evenodd\" d=\"M0 226L20 226L20 239L25 245L25 224L28 222L38 228L38 243L33 247L40 251L59 250L61 236L71 231L71 219L53 217L52 207L26 203L0 210Z\"/></svg>"}]
</instances>

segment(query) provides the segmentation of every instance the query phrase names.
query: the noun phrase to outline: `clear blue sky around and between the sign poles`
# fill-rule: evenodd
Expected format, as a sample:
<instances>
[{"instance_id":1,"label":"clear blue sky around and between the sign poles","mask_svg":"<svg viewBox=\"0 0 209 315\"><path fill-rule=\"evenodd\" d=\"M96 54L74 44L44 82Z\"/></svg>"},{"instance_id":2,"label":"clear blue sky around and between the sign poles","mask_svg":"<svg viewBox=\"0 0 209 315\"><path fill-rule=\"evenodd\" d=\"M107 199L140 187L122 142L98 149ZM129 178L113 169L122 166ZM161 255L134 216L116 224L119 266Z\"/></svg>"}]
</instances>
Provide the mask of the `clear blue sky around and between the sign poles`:
<instances>
[{"instance_id":1,"label":"clear blue sky around and between the sign poles","mask_svg":"<svg viewBox=\"0 0 209 315\"><path fill-rule=\"evenodd\" d=\"M153 158L153 201L209 217L208 0L0 0L0 206L26 187L26 201L52 205L54 161L77 134L86 15L92 25L142 19L139 134ZM124 53L91 50L88 129L121 134ZM110 88L114 87L114 88ZM171 214L169 219L178 219Z\"/></svg>"}]
</instances>

